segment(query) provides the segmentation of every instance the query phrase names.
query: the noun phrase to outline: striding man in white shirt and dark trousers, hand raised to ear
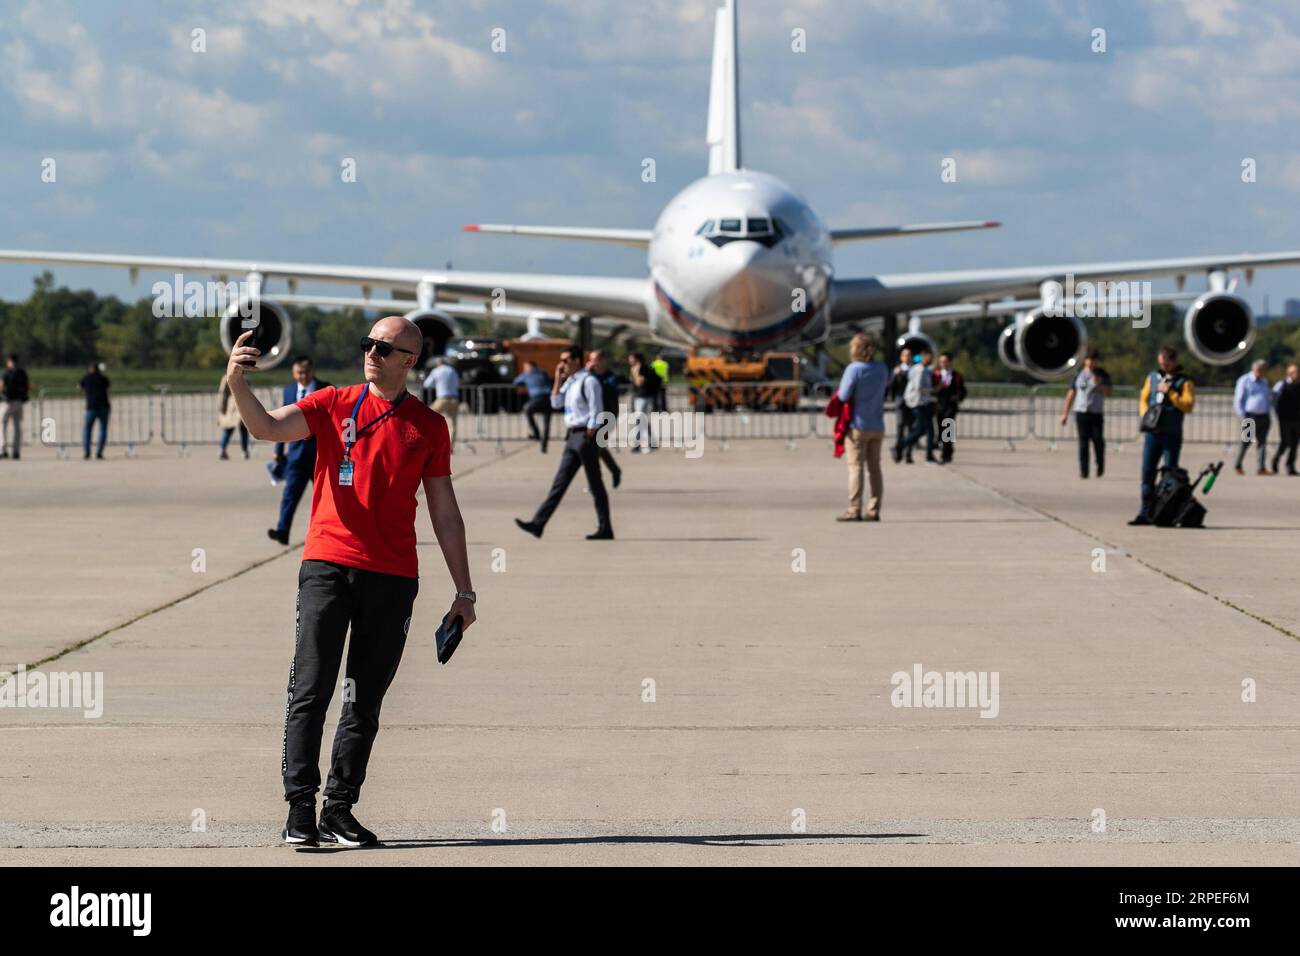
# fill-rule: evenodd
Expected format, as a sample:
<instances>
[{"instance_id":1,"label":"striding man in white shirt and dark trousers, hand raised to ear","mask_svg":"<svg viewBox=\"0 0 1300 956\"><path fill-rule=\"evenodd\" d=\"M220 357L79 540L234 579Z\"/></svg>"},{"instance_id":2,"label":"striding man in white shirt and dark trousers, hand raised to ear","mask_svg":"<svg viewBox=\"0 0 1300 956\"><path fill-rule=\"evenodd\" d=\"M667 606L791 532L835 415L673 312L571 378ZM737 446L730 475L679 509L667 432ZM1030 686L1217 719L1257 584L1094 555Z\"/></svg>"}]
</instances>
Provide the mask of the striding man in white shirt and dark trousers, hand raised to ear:
<instances>
[{"instance_id":1,"label":"striding man in white shirt and dark trousers, hand raised to ear","mask_svg":"<svg viewBox=\"0 0 1300 956\"><path fill-rule=\"evenodd\" d=\"M601 460L597 457L595 444L595 432L601 427L601 412L604 406L601 401L601 382L592 375L592 364L593 360L588 359L584 368L582 350L573 346L560 354L560 363L555 367L551 407L564 410L564 454L560 455L560 467L555 472L551 490L537 509L533 520L515 519L515 524L534 537L542 536L546 522L559 507L578 468L586 472L586 484L592 489L592 502L595 505L598 520L595 533L588 535L586 540L607 541L614 537L614 528L610 525L610 498L601 479Z\"/></svg>"}]
</instances>

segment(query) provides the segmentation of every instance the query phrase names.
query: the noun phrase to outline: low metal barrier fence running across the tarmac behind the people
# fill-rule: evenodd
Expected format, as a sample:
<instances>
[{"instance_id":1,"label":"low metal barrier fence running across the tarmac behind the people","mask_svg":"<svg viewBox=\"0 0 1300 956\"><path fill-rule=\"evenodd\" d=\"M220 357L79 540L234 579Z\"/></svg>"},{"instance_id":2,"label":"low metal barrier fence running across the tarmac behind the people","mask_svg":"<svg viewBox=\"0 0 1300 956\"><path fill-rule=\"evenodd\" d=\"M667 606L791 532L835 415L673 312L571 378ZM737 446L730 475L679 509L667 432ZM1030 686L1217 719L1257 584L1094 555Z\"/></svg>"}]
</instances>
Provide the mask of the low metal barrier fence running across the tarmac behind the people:
<instances>
[{"instance_id":1,"label":"low metal barrier fence running across the tarmac behind the people","mask_svg":"<svg viewBox=\"0 0 1300 956\"><path fill-rule=\"evenodd\" d=\"M731 441L775 438L796 442L801 438L831 438L835 423L823 410L833 384L801 390L798 407L780 408L712 407L707 401L710 389L725 389L728 399L734 399L748 386L706 385L697 390L698 405L692 402L692 392L685 385L668 390L667 407L673 414L699 412L706 440L724 445ZM754 386L754 403L759 405L759 385ZM1015 442L1037 440L1049 444L1074 441L1074 415L1066 415L1061 424L1066 386L1063 385L1000 385L994 382L967 382L966 401L956 419L957 441ZM268 408L281 403L282 390L259 386L254 393ZM526 398L511 385L472 385L460 392L460 410L456 423L456 442L471 451L478 442L489 442L498 449L506 444L530 441L532 434L524 415ZM620 410L630 414L632 398L620 393ZM1117 386L1106 399L1105 433L1113 442L1130 442L1140 437L1138 429L1138 389ZM217 421L218 398L214 389L172 389L157 386L153 393L121 394L113 397L108 427L108 445L126 447L134 454L142 445L157 437L164 445L185 453L190 446L216 445L221 440ZM885 432L892 436L897 411L888 406ZM61 455L82 444L86 418L84 397L77 389L42 389L29 403L23 428L29 444L56 447ZM542 425L538 419L538 427ZM620 433L630 432L630 419ZM563 412L551 414L551 437L562 438ZM92 440L98 437L98 425ZM654 436L658 441L658 434ZM1184 442L1234 445L1240 440L1240 421L1232 411L1231 389L1199 389L1196 410L1183 423Z\"/></svg>"}]
</instances>

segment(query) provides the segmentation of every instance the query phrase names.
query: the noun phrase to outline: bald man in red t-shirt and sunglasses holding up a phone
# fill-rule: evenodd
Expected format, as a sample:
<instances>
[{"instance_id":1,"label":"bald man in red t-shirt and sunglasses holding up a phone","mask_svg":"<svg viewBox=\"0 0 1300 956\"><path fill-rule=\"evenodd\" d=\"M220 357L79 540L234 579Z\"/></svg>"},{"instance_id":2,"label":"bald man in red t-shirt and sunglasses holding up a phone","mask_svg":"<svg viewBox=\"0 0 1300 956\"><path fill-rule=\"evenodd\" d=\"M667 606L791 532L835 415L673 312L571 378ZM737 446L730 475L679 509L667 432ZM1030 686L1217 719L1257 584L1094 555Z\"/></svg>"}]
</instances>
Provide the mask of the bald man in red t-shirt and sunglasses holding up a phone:
<instances>
[{"instance_id":1,"label":"bald man in red t-shirt and sunglasses holding up a phone","mask_svg":"<svg viewBox=\"0 0 1300 956\"><path fill-rule=\"evenodd\" d=\"M234 343L226 369L248 432L264 441L316 438L312 518L298 572L298 627L285 709L281 771L290 809L283 839L291 845L369 845L378 839L356 822L352 806L420 589L415 518L421 485L456 585L447 620L459 617L467 630L474 622L447 423L407 393L407 373L424 346L420 329L407 319L381 319L361 339L365 382L318 389L269 412L244 378L260 354L247 345L251 334ZM317 826L321 735L348 626L348 683Z\"/></svg>"}]
</instances>

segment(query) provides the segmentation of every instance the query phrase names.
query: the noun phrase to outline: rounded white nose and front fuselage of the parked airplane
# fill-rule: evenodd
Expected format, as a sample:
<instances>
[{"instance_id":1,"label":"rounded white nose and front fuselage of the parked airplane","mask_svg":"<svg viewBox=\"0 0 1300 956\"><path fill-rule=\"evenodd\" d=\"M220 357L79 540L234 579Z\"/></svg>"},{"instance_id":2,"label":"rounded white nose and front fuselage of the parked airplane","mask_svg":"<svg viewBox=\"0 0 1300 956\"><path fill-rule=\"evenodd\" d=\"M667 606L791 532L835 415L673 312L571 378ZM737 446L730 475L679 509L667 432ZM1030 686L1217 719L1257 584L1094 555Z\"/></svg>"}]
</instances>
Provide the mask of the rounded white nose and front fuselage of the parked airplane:
<instances>
[{"instance_id":1,"label":"rounded white nose and front fuselage of the parked airplane","mask_svg":"<svg viewBox=\"0 0 1300 956\"><path fill-rule=\"evenodd\" d=\"M831 234L774 176L737 170L686 186L655 222L649 265L662 341L749 351L829 332Z\"/></svg>"}]
</instances>

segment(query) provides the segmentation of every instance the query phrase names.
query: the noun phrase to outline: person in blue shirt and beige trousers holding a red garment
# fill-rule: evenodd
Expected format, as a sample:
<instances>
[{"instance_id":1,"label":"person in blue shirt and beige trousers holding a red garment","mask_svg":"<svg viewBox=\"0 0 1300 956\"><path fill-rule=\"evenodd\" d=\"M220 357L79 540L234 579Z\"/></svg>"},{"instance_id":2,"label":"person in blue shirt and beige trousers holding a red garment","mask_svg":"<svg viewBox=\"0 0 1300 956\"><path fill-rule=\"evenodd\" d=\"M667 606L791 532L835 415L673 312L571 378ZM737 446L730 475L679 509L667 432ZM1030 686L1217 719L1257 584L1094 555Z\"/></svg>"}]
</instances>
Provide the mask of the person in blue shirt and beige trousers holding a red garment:
<instances>
[{"instance_id":1,"label":"person in blue shirt and beige trousers holding a red garment","mask_svg":"<svg viewBox=\"0 0 1300 956\"><path fill-rule=\"evenodd\" d=\"M885 389L889 369L875 362L875 342L859 332L849 342L853 359L840 378L840 401L850 405L849 434L845 437L844 460L849 463L849 510L837 522L879 522L884 476L880 472L880 447L885 437ZM871 497L862 509L862 466L867 466Z\"/></svg>"}]
</instances>

